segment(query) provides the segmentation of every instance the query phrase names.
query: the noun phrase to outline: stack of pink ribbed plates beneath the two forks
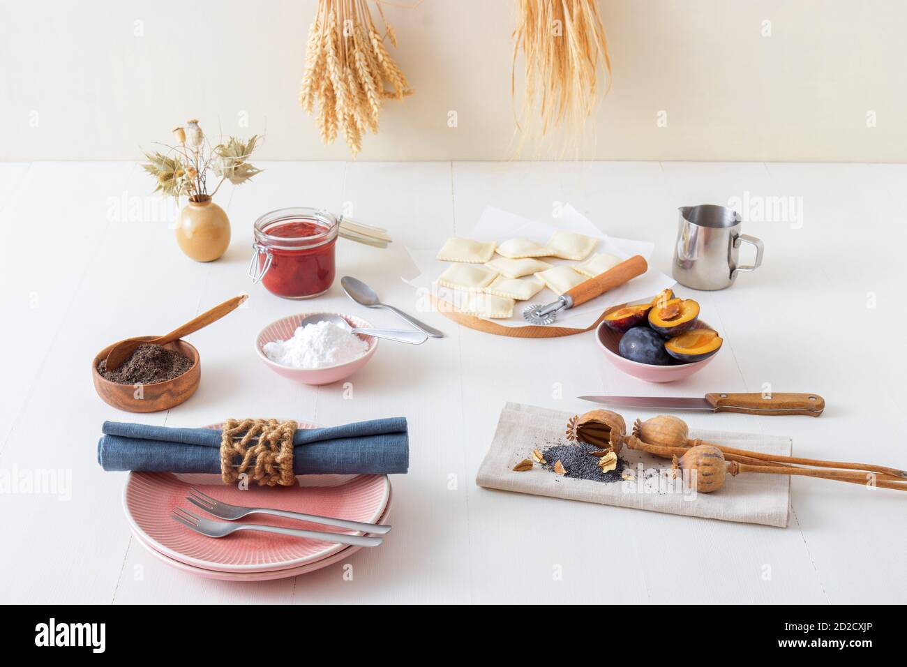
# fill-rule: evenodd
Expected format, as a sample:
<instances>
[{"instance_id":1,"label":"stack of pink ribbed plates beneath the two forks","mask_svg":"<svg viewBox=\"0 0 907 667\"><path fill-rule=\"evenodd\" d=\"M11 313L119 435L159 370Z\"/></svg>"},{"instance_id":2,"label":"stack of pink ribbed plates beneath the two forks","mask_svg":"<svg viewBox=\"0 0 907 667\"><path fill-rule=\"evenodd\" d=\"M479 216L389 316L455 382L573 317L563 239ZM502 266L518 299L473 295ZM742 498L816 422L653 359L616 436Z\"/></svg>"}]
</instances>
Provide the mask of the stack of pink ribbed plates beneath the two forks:
<instances>
[{"instance_id":1,"label":"stack of pink ribbed plates beneath the two forks","mask_svg":"<svg viewBox=\"0 0 907 667\"><path fill-rule=\"evenodd\" d=\"M300 422L299 427L315 426ZM123 489L122 504L132 534L152 555L183 572L228 581L265 581L314 572L346 559L361 547L258 531L241 531L218 539L200 535L171 518L173 508L182 507L192 514L220 520L186 499L192 487L230 505L272 507L368 524L387 520L391 486L386 475L313 475L297 479L297 486L250 486L240 490L221 484L219 476L133 472ZM239 521L363 535L271 515L249 515Z\"/></svg>"}]
</instances>

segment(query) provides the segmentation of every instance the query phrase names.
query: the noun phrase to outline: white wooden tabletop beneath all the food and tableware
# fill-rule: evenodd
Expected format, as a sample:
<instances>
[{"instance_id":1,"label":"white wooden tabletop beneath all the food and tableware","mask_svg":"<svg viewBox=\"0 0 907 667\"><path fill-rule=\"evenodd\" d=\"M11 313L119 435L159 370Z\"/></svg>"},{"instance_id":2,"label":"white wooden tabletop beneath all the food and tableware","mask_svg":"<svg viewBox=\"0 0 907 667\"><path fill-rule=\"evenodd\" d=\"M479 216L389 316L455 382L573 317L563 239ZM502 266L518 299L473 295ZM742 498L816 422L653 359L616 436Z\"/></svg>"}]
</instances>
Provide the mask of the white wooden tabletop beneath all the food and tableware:
<instances>
[{"instance_id":1,"label":"white wooden tabletop beneath all the food and tableware","mask_svg":"<svg viewBox=\"0 0 907 667\"><path fill-rule=\"evenodd\" d=\"M658 515L479 488L474 476L506 401L582 411L580 394L810 391L823 417L689 413L694 427L794 437L795 453L907 466L907 165L762 163L303 163L262 165L220 203L233 225L227 255L185 258L167 222L141 211L151 181L137 165L0 164L0 599L44 603L858 603L907 596L907 495L793 480L786 529ZM668 272L680 205L771 196L802 202L798 221L749 221L763 268L697 293L725 347L682 384L619 376L591 335L497 338L422 317L447 338L385 342L339 386L303 387L256 358L273 319L337 309L375 325L338 284L314 302L272 297L246 276L252 221L318 205L389 228L391 250L346 240L338 275L414 309L404 246L465 233L486 204L528 217L570 202L615 236L654 240ZM754 199L756 198L756 199ZM123 204L126 204L123 210ZM110 341L161 333L249 290L248 307L194 334L198 393L166 413L130 416L95 396L93 354ZM679 289L683 295L691 291ZM630 414L649 417L655 413ZM337 424L403 415L411 468L393 478L394 532L335 565L261 584L212 582L161 564L122 515L124 474L95 460L104 419L201 426L224 417L297 417ZM10 479L71 472L71 497L29 493Z\"/></svg>"}]
</instances>

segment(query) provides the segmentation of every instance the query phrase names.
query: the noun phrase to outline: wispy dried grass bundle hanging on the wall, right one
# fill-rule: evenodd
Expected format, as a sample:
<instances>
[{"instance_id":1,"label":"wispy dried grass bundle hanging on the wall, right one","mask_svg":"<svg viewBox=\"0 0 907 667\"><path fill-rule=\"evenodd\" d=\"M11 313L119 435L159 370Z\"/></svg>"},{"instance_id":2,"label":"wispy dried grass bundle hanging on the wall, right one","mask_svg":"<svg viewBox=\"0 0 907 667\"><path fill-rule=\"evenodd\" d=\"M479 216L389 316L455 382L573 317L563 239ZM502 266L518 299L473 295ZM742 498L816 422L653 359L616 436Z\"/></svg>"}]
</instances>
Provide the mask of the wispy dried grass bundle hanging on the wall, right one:
<instances>
[{"instance_id":1,"label":"wispy dried grass bundle hanging on the wall, right one","mask_svg":"<svg viewBox=\"0 0 907 667\"><path fill-rule=\"evenodd\" d=\"M511 95L516 98L516 60L522 49L525 89L522 110L517 113L521 143L561 123L576 140L595 107L600 64L610 89L611 62L598 4L596 0L519 2Z\"/></svg>"}]
</instances>

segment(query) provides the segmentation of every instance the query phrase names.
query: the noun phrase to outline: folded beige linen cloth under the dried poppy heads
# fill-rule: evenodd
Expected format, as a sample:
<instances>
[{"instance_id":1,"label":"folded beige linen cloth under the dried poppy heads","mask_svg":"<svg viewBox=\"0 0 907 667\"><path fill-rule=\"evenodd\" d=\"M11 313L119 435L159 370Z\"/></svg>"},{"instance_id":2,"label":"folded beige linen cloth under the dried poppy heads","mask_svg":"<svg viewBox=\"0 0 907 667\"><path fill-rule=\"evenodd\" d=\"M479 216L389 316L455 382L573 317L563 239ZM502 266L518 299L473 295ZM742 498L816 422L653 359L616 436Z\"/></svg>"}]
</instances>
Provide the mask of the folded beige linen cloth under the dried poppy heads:
<instances>
[{"instance_id":1,"label":"folded beige linen cloth under the dried poppy heads","mask_svg":"<svg viewBox=\"0 0 907 667\"><path fill-rule=\"evenodd\" d=\"M703 516L748 524L787 526L790 506L790 476L741 473L727 476L724 486L710 494L694 493L682 484L680 475L671 480L671 462L645 452L620 452L636 479L624 482L595 482L556 475L536 465L531 471L514 472L512 467L531 458L533 449L568 444L567 421L574 413L508 403L502 410L492 445L479 467L475 483L487 488L524 494L549 495L601 505L634 507L675 515ZM626 418L626 417L625 417ZM628 428L631 424L628 423ZM750 449L767 454L790 456L791 438L724 431L690 430L690 437L723 446ZM553 464L553 461L549 463ZM644 473L640 475L639 464Z\"/></svg>"}]
</instances>

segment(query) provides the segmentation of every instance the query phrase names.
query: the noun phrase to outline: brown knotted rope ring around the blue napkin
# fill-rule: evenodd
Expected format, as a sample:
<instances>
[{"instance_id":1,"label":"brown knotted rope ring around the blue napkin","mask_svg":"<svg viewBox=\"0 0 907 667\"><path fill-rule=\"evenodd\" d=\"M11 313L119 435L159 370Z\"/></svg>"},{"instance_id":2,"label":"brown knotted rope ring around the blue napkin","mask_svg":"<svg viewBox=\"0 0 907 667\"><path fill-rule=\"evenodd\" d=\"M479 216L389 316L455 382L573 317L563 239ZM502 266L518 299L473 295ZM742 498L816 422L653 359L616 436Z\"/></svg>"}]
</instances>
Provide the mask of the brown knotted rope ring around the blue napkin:
<instances>
[{"instance_id":1,"label":"brown knotted rope ring around the blue napkin","mask_svg":"<svg viewBox=\"0 0 907 667\"><path fill-rule=\"evenodd\" d=\"M220 437L220 478L233 484L249 475L258 486L293 486L295 421L228 419ZM235 463L237 459L239 464Z\"/></svg>"}]
</instances>

